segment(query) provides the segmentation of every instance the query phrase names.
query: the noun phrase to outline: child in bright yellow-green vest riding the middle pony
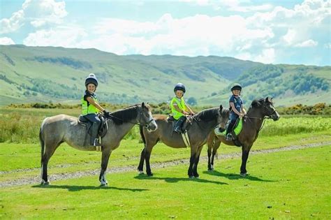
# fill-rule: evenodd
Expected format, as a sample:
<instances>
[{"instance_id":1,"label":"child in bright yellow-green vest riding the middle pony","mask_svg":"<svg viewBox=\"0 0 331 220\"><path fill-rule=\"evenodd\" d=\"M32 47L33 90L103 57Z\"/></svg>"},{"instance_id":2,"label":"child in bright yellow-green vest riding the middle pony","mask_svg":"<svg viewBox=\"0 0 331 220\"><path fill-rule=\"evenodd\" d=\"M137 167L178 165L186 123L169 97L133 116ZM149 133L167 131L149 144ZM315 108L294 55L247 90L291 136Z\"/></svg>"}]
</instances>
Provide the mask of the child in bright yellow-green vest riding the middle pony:
<instances>
[{"instance_id":1,"label":"child in bright yellow-green vest riding the middle pony","mask_svg":"<svg viewBox=\"0 0 331 220\"><path fill-rule=\"evenodd\" d=\"M186 115L194 115L194 112L186 105L184 101L185 86L182 83L177 83L174 88L175 97L170 101L170 108L173 117L177 120L174 131L182 133L181 127L186 120Z\"/></svg>"}]
</instances>

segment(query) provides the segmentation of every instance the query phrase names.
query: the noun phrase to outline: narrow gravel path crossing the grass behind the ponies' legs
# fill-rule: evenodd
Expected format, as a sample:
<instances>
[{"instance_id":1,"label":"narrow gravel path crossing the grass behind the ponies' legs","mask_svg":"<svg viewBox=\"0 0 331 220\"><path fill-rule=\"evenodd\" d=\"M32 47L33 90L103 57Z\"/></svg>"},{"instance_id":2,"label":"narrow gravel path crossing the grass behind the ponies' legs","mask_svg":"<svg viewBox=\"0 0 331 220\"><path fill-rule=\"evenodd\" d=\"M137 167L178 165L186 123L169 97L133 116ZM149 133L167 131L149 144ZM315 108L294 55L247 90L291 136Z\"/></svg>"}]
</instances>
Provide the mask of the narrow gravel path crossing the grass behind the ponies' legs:
<instances>
[{"instance_id":1,"label":"narrow gravel path crossing the grass behind the ponies' legs","mask_svg":"<svg viewBox=\"0 0 331 220\"><path fill-rule=\"evenodd\" d=\"M276 149L256 149L252 150L249 154L269 154L273 152L282 152L282 151L290 151L294 149L304 149L309 147L320 147L324 145L331 145L331 142L316 142L313 144L307 144L307 145L292 145L288 147L281 147ZM239 149L239 147L238 147ZM219 159L230 159L230 158L236 158L242 156L241 152L237 153L231 153L231 154L220 154L218 156ZM200 157L200 161L207 161L207 156ZM92 162L96 163L96 162ZM99 162L98 162L99 163ZM189 163L189 159L179 159L175 161L167 161L167 162L159 162L159 163L152 163L152 168L165 168L169 166L177 166L178 164L182 163ZM58 165L54 167L70 167L73 166L73 164L64 164L64 165ZM124 173L128 171L135 171L137 169L137 166L124 166L124 167L115 167L115 168L109 168L107 170L107 173ZM1 171L1 174L8 174L8 173L17 173L17 172L24 172L24 171L31 171L31 170L40 170L40 168L29 168L29 169L18 169L18 170L10 170L10 171ZM96 175L98 177L100 173L100 169L97 170L85 170L85 171L78 171L75 173L61 173L61 174L54 174L49 175L48 179L50 181L56 181L60 179L74 179L74 178L80 178L80 177L86 177L91 175ZM23 179L15 179L15 182L12 180L0 182L0 188L6 187L6 186L17 186L17 185L24 185L24 184L39 184L41 182L40 177L27 177Z\"/></svg>"}]
</instances>

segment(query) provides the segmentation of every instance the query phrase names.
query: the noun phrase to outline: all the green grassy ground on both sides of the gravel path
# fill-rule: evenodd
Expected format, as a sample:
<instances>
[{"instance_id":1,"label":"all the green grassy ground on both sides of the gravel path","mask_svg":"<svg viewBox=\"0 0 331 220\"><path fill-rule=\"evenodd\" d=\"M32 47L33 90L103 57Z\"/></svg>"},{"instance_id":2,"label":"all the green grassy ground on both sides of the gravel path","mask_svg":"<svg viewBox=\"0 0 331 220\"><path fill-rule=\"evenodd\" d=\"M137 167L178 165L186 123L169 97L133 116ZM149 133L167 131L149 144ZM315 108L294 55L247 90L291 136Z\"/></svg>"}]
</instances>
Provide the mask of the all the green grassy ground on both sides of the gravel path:
<instances>
[{"instance_id":1,"label":"all the green grassy ground on both sides of the gravel path","mask_svg":"<svg viewBox=\"0 0 331 220\"><path fill-rule=\"evenodd\" d=\"M38 129L43 118L79 115L78 109L0 108L0 183L40 175ZM189 163L159 168L156 163L189 159L190 149L159 143L151 165L154 177L134 171L109 173L109 186L98 175L34 184L0 186L0 219L330 219L331 117L281 117L267 120L252 151L292 145L323 147L249 156L249 177L240 177L240 157L216 160L207 172L203 148L200 179L188 179ZM323 144L324 143L324 144ZM137 167L138 127L112 152L108 169ZM240 153L221 145L219 155ZM49 175L98 170L100 152L82 152L63 144L49 163ZM131 168L132 170L132 168Z\"/></svg>"}]
</instances>

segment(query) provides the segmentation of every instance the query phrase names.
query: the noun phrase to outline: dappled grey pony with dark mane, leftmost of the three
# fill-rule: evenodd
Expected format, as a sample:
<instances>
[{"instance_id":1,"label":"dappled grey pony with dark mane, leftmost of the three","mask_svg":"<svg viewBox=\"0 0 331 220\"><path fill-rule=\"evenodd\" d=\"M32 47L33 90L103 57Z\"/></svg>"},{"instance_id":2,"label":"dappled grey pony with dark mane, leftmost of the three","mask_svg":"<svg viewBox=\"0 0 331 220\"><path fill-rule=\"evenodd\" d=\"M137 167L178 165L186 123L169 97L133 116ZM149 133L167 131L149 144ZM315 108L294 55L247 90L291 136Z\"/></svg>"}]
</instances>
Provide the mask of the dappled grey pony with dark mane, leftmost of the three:
<instances>
[{"instance_id":1,"label":"dappled grey pony with dark mane, leftmost of the three","mask_svg":"<svg viewBox=\"0 0 331 220\"><path fill-rule=\"evenodd\" d=\"M108 131L102 139L101 172L99 176L102 186L108 184L105 179L105 171L107 170L110 154L119 147L119 143L124 138L124 135L135 124L140 124L151 131L157 129L150 107L145 105L145 103L112 112L106 123L108 124ZM86 135L87 129L78 123L77 117L55 115L43 120L39 133L41 141L41 184L49 184L47 163L61 143L66 142L75 149L85 151L94 151L96 149L94 146L84 145Z\"/></svg>"}]
</instances>

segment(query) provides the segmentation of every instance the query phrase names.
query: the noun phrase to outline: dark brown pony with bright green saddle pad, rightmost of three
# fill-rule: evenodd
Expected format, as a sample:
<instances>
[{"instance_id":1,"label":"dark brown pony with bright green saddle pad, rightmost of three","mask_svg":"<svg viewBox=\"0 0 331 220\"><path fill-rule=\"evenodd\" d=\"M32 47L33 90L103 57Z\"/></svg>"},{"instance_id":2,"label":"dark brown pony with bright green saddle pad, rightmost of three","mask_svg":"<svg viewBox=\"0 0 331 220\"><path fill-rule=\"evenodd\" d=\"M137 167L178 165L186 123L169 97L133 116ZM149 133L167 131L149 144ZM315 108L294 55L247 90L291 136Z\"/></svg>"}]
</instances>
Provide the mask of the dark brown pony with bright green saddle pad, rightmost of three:
<instances>
[{"instance_id":1,"label":"dark brown pony with bright green saddle pad, rightmost of three","mask_svg":"<svg viewBox=\"0 0 331 220\"><path fill-rule=\"evenodd\" d=\"M272 105L272 98L262 98L258 101L253 101L242 122L242 131L237 136L237 139L242 146L242 166L240 167L241 176L247 175L246 163L249 151L258 138L258 132L262 129L263 122L266 118L271 118L274 121L279 119L279 114ZM224 135L215 135L214 131L209 133L207 140L208 170L214 170L214 156L217 149L219 149L221 142L226 145L235 145L232 140L226 140Z\"/></svg>"}]
</instances>

